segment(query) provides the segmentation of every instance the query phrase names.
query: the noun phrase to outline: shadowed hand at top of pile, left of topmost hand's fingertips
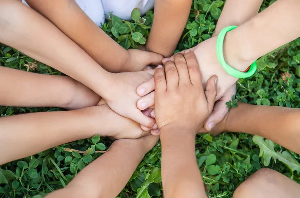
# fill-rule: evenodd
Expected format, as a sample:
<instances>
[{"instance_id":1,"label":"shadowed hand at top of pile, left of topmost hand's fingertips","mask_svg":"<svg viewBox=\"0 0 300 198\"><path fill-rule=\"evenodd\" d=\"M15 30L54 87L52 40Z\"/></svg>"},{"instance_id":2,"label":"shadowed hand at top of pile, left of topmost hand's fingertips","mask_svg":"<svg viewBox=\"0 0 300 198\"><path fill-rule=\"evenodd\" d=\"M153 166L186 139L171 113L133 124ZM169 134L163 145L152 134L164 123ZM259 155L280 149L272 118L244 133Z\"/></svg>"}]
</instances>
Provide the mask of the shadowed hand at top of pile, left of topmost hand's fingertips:
<instances>
[{"instance_id":1,"label":"shadowed hand at top of pile, left of topmost hand's fingertips","mask_svg":"<svg viewBox=\"0 0 300 198\"><path fill-rule=\"evenodd\" d=\"M138 49L128 49L129 61L125 64L124 72L141 71L148 65L162 63L163 56L153 52Z\"/></svg>"}]
</instances>

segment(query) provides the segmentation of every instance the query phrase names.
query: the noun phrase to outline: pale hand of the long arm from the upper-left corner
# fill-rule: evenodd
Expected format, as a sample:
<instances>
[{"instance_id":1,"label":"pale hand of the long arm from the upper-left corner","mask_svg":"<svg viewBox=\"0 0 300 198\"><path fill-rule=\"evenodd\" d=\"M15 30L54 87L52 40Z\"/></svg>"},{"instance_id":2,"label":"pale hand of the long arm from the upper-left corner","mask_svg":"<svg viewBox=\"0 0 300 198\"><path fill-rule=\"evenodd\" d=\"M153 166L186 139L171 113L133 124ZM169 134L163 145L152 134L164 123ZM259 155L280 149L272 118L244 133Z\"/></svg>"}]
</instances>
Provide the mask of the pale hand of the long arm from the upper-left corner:
<instances>
[{"instance_id":1,"label":"pale hand of the long arm from the upper-left corner","mask_svg":"<svg viewBox=\"0 0 300 198\"><path fill-rule=\"evenodd\" d=\"M144 115L136 107L136 102L140 98L136 94L136 88L153 78L153 73L154 70L146 70L113 74L114 84L110 87L109 96L104 99L108 106L119 115L130 118L147 128L157 129L157 125L154 125L155 120Z\"/></svg>"}]
</instances>

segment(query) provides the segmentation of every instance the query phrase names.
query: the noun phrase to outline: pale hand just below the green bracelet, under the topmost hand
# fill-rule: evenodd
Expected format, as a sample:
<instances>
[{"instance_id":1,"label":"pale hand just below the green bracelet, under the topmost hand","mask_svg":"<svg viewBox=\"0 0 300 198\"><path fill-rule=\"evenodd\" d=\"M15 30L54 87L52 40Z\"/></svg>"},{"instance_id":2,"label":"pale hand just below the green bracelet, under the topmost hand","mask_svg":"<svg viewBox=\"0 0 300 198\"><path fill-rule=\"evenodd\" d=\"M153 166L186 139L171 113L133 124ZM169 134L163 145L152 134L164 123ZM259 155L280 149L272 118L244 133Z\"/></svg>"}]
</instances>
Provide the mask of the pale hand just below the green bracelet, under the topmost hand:
<instances>
[{"instance_id":1,"label":"pale hand just below the green bracelet, under the topmost hand","mask_svg":"<svg viewBox=\"0 0 300 198\"><path fill-rule=\"evenodd\" d=\"M231 75L227 74L225 70L222 68L222 66L219 64L216 52L215 52L215 45L216 45L216 39L217 37L210 38L196 47L193 47L189 50L194 51L195 56L198 60L198 63L201 65L201 73L202 73L202 82L205 85L205 82L211 75L217 75L218 81L221 83L218 83L218 96L217 100L220 100L216 106L215 109L211 115L211 117L208 118L207 122L205 123L205 128L207 130L210 130L213 128L214 125L218 123L218 121L222 120L225 116L225 114L228 112L226 102L232 99L232 96L235 94L235 88L232 88L232 86L236 81L237 78L232 77ZM184 51L180 52L183 53ZM174 56L170 58L163 59L163 62L166 61L173 61ZM227 63L229 61L229 64L236 65L250 65L251 62L243 62L240 60L226 60ZM137 89L137 93L140 96L144 96L154 90L154 80L150 79L148 82L140 85ZM230 90L227 91L227 89L230 88ZM137 107L139 109L147 108L148 106L154 105L154 92L151 92L150 94L144 96L137 102ZM142 105L143 104L143 105Z\"/></svg>"}]
</instances>

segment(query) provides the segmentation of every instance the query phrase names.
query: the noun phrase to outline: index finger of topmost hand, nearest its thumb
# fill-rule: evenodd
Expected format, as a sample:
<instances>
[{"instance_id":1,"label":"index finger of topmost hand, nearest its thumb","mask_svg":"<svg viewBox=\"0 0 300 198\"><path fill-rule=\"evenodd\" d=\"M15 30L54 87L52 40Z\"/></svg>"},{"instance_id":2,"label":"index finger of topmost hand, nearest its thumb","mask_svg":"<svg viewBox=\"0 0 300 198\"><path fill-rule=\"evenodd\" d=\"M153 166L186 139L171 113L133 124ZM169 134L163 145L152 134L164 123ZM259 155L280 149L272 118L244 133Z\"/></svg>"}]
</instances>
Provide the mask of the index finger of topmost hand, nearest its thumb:
<instances>
[{"instance_id":1,"label":"index finger of topmost hand, nearest its thumb","mask_svg":"<svg viewBox=\"0 0 300 198\"><path fill-rule=\"evenodd\" d=\"M187 63L189 78L191 83L197 87L203 87L201 72L196 56L190 50L186 50L184 52L184 58Z\"/></svg>"}]
</instances>

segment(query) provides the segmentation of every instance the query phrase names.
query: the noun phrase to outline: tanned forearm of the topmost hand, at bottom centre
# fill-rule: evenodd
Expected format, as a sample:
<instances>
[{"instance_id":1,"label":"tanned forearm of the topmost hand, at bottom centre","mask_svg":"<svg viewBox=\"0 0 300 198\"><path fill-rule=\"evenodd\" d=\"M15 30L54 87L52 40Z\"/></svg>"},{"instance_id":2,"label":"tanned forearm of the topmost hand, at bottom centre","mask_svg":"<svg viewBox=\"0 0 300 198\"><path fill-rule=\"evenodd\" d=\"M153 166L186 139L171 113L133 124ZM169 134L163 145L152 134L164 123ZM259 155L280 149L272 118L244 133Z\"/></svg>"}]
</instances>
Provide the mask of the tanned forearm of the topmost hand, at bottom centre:
<instances>
[{"instance_id":1,"label":"tanned forearm of the topmost hand, at bottom centre","mask_svg":"<svg viewBox=\"0 0 300 198\"><path fill-rule=\"evenodd\" d=\"M180 131L181 130L181 131ZM160 131L165 197L207 197L195 157L195 136L182 129Z\"/></svg>"}]
</instances>

